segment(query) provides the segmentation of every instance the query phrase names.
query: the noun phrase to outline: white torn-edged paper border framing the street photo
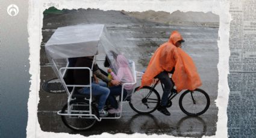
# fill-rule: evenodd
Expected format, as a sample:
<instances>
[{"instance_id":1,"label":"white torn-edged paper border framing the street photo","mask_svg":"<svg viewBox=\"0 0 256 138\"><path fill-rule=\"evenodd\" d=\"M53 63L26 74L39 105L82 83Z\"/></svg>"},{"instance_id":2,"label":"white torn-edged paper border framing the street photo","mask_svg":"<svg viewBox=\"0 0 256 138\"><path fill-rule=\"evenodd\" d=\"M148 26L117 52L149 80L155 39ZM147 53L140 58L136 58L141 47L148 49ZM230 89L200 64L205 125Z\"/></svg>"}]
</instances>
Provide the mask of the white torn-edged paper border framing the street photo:
<instances>
[{"instance_id":1,"label":"white torn-edged paper border framing the street photo","mask_svg":"<svg viewBox=\"0 0 256 138\"><path fill-rule=\"evenodd\" d=\"M216 135L212 137L228 137L227 128L227 114L226 109L228 106L228 59L229 59L229 25L231 22L231 15L229 14L229 1L223 0L136 0L136 1L101 1L101 0L58 0L58 1L43 1L37 0L29 1L29 15L28 15L28 42L30 44L30 74L31 74L31 86L30 96L28 99L28 125L27 125L27 137L84 137L80 134L68 134L68 133L51 133L45 132L40 129L39 122L37 120L37 104L39 103L39 89L40 89L40 43L42 40L42 25L43 25L43 11L48 8L45 3L58 4L58 9L67 8L99 8L100 10L125 10L125 11L166 11L172 13L173 11L180 10L187 11L202 11L207 13L211 11L214 14L219 15L219 40L217 41L219 47L219 64L217 65L219 72L219 87L216 105L219 109L217 131ZM123 137L128 136L126 134L108 134L103 133L101 135L89 136L89 137ZM146 134L131 134L128 137L174 137L164 135L150 135Z\"/></svg>"}]
</instances>

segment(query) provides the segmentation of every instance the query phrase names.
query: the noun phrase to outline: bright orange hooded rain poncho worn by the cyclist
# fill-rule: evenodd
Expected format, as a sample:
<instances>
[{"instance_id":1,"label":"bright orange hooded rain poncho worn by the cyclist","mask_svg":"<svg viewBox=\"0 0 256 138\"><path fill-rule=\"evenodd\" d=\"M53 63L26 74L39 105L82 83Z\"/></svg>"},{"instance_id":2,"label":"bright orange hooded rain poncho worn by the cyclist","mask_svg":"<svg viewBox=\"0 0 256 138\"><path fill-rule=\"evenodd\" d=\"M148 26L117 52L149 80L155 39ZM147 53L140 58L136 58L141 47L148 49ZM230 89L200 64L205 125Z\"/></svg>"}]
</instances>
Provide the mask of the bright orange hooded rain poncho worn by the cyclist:
<instances>
[{"instance_id":1,"label":"bright orange hooded rain poncho worn by the cyclist","mask_svg":"<svg viewBox=\"0 0 256 138\"><path fill-rule=\"evenodd\" d=\"M202 85L192 58L180 47L175 46L175 43L180 40L183 40L180 33L173 31L169 41L158 47L142 76L141 87L151 85L157 74L164 70L171 71L173 67L175 67L175 71L172 80L178 92L183 89L194 90Z\"/></svg>"}]
</instances>

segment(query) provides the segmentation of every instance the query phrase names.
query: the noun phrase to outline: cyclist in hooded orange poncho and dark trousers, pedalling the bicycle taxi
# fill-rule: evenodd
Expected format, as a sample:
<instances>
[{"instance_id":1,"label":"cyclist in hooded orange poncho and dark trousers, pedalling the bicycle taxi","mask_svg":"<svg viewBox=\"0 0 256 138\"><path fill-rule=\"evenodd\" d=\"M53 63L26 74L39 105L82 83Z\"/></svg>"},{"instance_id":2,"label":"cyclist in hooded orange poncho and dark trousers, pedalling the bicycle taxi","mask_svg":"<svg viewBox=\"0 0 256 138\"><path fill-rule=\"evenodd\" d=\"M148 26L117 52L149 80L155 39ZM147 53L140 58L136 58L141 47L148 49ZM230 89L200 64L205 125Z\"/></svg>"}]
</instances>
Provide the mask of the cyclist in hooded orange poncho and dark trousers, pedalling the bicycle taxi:
<instances>
[{"instance_id":1,"label":"cyclist in hooded orange poncho and dark trousers, pedalling the bicycle taxi","mask_svg":"<svg viewBox=\"0 0 256 138\"><path fill-rule=\"evenodd\" d=\"M169 41L161 44L155 51L145 74L142 76L142 86L149 86L153 83L154 78L158 78L164 85L163 96L158 110L164 115L170 115L166 109L168 103L168 95L173 89L173 82L176 86L176 91L180 92L183 89L194 90L202 85L201 79L196 71L195 64L192 58L181 49L183 37L178 31L173 31ZM170 80L169 73L175 68Z\"/></svg>"}]
</instances>

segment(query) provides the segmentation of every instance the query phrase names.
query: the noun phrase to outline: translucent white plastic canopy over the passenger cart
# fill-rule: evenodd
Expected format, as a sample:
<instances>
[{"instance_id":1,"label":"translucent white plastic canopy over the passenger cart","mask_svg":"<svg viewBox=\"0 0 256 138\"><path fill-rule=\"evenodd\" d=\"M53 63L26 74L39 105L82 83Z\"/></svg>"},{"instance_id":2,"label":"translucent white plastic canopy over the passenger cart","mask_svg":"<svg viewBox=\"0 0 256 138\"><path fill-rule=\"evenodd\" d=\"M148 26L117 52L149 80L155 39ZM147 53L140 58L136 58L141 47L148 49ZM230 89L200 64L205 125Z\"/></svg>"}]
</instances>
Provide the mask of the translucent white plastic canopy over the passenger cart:
<instances>
[{"instance_id":1,"label":"translucent white plastic canopy over the passenger cart","mask_svg":"<svg viewBox=\"0 0 256 138\"><path fill-rule=\"evenodd\" d=\"M56 29L45 44L46 53L52 59L93 56L114 50L102 24L64 26Z\"/></svg>"}]
</instances>

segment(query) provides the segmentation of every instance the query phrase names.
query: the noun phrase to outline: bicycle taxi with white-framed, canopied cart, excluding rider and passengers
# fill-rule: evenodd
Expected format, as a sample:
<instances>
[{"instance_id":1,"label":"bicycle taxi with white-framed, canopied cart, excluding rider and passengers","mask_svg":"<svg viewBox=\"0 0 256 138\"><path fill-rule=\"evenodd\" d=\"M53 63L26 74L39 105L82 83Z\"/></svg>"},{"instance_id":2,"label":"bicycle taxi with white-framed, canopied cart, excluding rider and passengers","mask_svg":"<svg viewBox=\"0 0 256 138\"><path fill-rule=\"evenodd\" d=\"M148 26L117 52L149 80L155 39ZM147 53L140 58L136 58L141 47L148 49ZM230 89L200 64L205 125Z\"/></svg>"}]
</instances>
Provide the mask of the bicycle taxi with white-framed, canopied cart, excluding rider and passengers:
<instances>
[{"instance_id":1,"label":"bicycle taxi with white-framed, canopied cart, excluding rider and passengers","mask_svg":"<svg viewBox=\"0 0 256 138\"><path fill-rule=\"evenodd\" d=\"M74 67L74 59L84 56L93 56L93 63L102 61L105 56L110 62L110 67L113 71L117 71L116 63L114 59L114 53L120 54L116 45L111 40L110 35L104 25L101 24L87 24L87 25L75 25L65 26L58 28L49 41L45 45L46 56L54 70L54 73L61 80L62 85L67 93L67 104L57 114L61 115L61 119L64 124L72 130L83 131L91 128L96 121L102 119L119 119L122 116L122 104L123 102L123 88L125 85L136 85L137 79L141 79L143 73L135 70L134 61L128 60L128 65L131 73L133 74L133 82L122 83L122 92L120 98L120 113L101 117L97 109L95 97L92 96L92 68L90 67ZM104 61L104 60L103 60ZM86 76L90 80L89 85L77 85L73 83L72 71L74 70L89 70L90 76ZM71 78L71 79L70 79ZM157 82L158 83L158 82ZM160 104L160 95L154 83L152 86L144 86L142 89L136 88L133 91L128 92L128 96L131 100L128 101L131 108L137 113L152 113ZM163 85L161 84L162 88ZM90 88L89 95L83 95L76 91L77 87ZM201 95L196 95L201 94ZM172 98L176 94L171 92L169 95L169 107L172 106ZM195 106L200 102L196 100L206 99L201 102L203 105L202 110L191 113L189 109L186 109L183 101L189 96L190 100ZM189 101L189 100L188 100ZM200 104L201 104L200 103ZM181 110L190 116L198 116L206 112L210 104L210 98L207 93L202 89L195 89L195 91L185 91L180 97ZM195 111L194 111L195 112Z\"/></svg>"}]
</instances>

